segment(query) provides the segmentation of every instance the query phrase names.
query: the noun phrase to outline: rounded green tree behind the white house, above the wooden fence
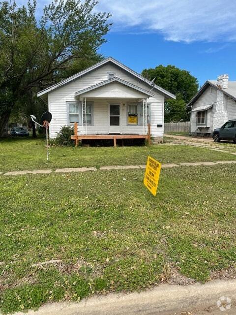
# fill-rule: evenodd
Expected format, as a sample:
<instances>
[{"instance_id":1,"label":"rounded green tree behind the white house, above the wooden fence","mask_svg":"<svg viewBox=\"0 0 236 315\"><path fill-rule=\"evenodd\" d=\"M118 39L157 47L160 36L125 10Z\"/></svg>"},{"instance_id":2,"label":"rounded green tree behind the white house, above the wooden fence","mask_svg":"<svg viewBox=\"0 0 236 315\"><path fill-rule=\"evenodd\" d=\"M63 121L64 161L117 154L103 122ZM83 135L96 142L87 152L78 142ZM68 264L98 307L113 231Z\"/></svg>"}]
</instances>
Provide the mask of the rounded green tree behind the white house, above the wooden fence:
<instances>
[{"instance_id":1,"label":"rounded green tree behind the white house, above the wooden fence","mask_svg":"<svg viewBox=\"0 0 236 315\"><path fill-rule=\"evenodd\" d=\"M165 104L165 122L177 122L187 119L185 103L198 92L198 80L189 71L174 65L162 64L155 68L144 69L142 75L148 80L155 78L155 84L175 94L176 100L168 100Z\"/></svg>"}]
</instances>

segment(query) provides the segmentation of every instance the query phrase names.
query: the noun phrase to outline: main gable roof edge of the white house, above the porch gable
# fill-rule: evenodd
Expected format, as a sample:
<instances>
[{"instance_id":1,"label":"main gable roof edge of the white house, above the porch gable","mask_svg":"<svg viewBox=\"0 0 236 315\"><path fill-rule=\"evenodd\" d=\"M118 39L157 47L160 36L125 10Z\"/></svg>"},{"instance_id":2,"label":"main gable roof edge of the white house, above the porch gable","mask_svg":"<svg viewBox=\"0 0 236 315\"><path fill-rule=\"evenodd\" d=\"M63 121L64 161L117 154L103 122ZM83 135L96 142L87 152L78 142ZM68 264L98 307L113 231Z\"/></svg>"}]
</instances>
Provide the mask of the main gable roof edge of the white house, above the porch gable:
<instances>
[{"instance_id":1,"label":"main gable roof edge of the white house, above the porch gable","mask_svg":"<svg viewBox=\"0 0 236 315\"><path fill-rule=\"evenodd\" d=\"M38 93L37 93L37 96L41 96L41 95L44 95L44 94L46 94L46 93L49 93L49 92L51 92L51 91L53 91L53 90L55 90L55 89L61 87L62 85L67 84L67 83L69 83L69 82L71 82L71 81L73 81L73 80L75 80L75 79L81 77L82 75L84 75L84 74L86 74L86 73L88 73L88 72L90 72L90 71L92 71L92 70L94 70L94 69L96 69L96 68L102 66L103 64L109 63L109 62L116 64L118 67L120 67L120 68L122 68L123 70L129 72L130 74L132 74L133 76L137 77L138 79L140 79L140 80L146 82L148 85L151 84L151 82L150 82L148 79L144 78L141 74L139 74L139 73L133 71L132 69L130 69L130 68L127 67L126 65L124 65L124 64L122 64L122 63L120 63L120 62L118 62L116 59L114 59L114 58L112 58L112 57L108 57L108 58L102 60L101 62L96 63L96 64L90 66L89 68L87 68L87 69L85 69L85 70L83 70L83 71L81 71L81 72L79 72L79 73L76 73L76 74L72 75L71 77L69 77L69 78L67 78L67 79L65 79L65 80L63 80L63 81L61 81L61 82L59 82L59 83L57 83L57 84L54 84L54 85L52 85L51 87L49 87L49 88L47 88L47 89L44 89L43 91L38 92ZM156 84L154 85L154 89L158 90L159 92L161 92L162 94L164 94L164 95L167 96L168 98L174 98L174 99L176 98L176 96L175 96L174 94L172 94L172 93L166 91L165 89L159 87L159 86L156 85Z\"/></svg>"}]
</instances>

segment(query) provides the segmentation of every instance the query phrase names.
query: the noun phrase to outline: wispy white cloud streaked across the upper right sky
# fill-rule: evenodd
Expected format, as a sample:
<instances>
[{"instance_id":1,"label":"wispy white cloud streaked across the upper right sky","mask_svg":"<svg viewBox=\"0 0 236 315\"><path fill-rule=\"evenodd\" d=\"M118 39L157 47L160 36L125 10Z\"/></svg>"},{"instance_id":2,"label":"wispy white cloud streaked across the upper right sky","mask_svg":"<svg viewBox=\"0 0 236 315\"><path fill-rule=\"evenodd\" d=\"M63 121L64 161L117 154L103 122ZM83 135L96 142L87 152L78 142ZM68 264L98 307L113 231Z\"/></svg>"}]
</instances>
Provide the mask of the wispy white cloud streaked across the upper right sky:
<instances>
[{"instance_id":1,"label":"wispy white cloud streaked across the upper right sky","mask_svg":"<svg viewBox=\"0 0 236 315\"><path fill-rule=\"evenodd\" d=\"M235 41L235 0L100 0L113 31L160 32L172 41Z\"/></svg>"}]
</instances>

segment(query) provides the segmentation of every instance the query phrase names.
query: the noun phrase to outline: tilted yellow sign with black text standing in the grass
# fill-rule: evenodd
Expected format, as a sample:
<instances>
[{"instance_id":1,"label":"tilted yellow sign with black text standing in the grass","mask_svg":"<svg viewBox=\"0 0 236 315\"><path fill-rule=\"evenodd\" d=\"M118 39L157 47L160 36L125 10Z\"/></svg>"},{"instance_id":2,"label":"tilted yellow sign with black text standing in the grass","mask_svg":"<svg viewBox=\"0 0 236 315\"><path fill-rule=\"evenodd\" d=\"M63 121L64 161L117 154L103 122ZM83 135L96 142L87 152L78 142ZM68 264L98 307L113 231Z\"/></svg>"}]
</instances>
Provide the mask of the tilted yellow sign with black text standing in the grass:
<instances>
[{"instance_id":1,"label":"tilted yellow sign with black text standing in the grass","mask_svg":"<svg viewBox=\"0 0 236 315\"><path fill-rule=\"evenodd\" d=\"M155 196L159 182L161 163L154 158L148 157L144 176L144 185Z\"/></svg>"}]
</instances>

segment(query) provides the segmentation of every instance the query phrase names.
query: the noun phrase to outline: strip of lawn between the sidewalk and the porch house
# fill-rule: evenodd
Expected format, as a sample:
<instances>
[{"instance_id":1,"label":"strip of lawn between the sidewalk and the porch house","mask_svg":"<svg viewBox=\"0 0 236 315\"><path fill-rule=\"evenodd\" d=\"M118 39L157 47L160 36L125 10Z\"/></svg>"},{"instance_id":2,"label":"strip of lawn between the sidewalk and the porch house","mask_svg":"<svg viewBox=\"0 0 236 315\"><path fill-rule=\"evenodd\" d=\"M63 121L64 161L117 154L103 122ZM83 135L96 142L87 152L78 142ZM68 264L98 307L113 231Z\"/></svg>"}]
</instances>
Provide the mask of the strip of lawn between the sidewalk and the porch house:
<instances>
[{"instance_id":1,"label":"strip of lawn between the sidewalk and the porch house","mask_svg":"<svg viewBox=\"0 0 236 315\"><path fill-rule=\"evenodd\" d=\"M24 169L146 164L151 155L162 163L233 160L236 156L184 145L143 147L51 147L46 160L43 139L7 139L0 142L0 171Z\"/></svg>"}]
</instances>

